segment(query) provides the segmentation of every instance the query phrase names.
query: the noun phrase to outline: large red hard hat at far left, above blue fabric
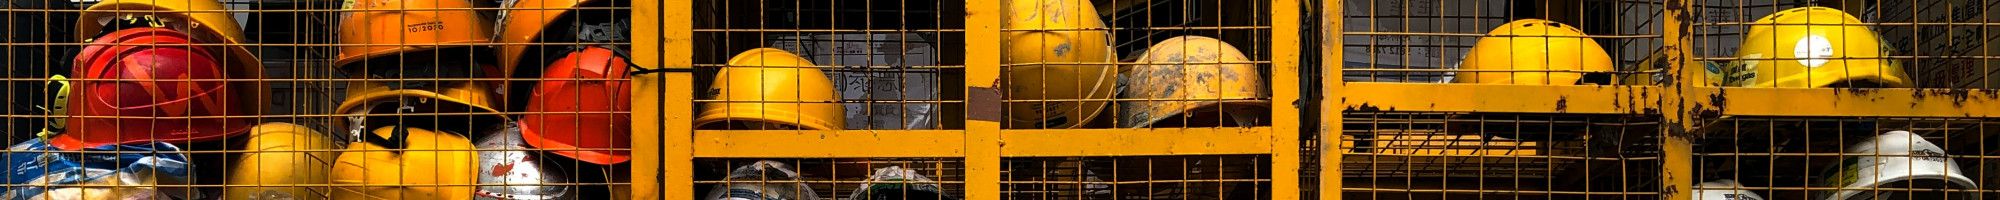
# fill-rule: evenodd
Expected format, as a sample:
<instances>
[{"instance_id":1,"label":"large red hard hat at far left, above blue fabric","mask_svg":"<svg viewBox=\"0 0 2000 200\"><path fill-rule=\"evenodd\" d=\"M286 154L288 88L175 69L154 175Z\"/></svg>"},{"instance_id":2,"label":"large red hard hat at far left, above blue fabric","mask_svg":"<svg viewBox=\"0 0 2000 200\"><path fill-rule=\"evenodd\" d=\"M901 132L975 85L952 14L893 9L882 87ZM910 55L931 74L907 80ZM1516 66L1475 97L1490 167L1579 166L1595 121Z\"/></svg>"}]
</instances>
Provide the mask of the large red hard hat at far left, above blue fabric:
<instances>
[{"instance_id":1,"label":"large red hard hat at far left, above blue fabric","mask_svg":"<svg viewBox=\"0 0 2000 200\"><path fill-rule=\"evenodd\" d=\"M168 28L126 28L76 54L70 130L50 138L78 150L132 142L200 142L242 134L254 122L210 48Z\"/></svg>"}]
</instances>

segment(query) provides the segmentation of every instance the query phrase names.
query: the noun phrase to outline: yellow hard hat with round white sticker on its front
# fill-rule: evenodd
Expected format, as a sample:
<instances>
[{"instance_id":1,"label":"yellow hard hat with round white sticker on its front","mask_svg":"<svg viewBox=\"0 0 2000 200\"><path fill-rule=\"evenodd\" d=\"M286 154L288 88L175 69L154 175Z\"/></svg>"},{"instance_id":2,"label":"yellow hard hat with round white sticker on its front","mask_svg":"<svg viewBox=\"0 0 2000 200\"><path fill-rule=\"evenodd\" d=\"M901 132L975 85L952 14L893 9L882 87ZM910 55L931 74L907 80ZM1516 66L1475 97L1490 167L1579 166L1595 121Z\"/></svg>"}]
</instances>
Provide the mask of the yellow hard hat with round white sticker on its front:
<instances>
[{"instance_id":1,"label":"yellow hard hat with round white sticker on its front","mask_svg":"<svg viewBox=\"0 0 2000 200\"><path fill-rule=\"evenodd\" d=\"M1886 58L1890 48L1860 18L1834 8L1808 6L1764 16L1750 24L1734 70L1750 72L1736 86L1826 88L1884 86L1908 88L1902 64Z\"/></svg>"}]
</instances>

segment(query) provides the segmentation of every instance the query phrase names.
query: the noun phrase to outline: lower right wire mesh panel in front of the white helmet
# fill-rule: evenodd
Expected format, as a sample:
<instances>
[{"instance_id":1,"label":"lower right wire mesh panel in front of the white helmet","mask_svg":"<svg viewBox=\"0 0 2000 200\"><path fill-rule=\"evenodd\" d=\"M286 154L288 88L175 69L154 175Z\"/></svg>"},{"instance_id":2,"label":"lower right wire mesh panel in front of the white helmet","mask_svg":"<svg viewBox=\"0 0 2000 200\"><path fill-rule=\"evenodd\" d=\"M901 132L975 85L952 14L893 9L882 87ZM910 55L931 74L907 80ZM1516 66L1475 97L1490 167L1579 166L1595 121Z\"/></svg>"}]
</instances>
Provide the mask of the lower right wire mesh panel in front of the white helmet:
<instances>
[{"instance_id":1,"label":"lower right wire mesh panel in front of the white helmet","mask_svg":"<svg viewBox=\"0 0 2000 200\"><path fill-rule=\"evenodd\" d=\"M1976 118L1730 118L1696 142L1696 192L1768 200L1990 200L2000 138ZM1730 184L1714 184L1730 182Z\"/></svg>"}]
</instances>

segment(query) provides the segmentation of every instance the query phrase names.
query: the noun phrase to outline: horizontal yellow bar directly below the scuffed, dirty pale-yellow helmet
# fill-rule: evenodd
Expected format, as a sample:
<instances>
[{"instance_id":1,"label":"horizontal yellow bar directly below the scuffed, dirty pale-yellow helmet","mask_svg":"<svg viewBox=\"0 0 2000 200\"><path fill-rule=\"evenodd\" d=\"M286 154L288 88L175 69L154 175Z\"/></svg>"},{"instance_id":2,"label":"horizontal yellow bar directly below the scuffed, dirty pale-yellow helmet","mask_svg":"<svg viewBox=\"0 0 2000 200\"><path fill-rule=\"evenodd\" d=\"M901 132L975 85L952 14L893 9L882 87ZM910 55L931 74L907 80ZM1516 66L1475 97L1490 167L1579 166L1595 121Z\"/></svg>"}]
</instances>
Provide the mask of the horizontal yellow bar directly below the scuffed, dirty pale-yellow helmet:
<instances>
[{"instance_id":1,"label":"horizontal yellow bar directly below the scuffed, dirty pale-yellow helmet","mask_svg":"<svg viewBox=\"0 0 2000 200\"><path fill-rule=\"evenodd\" d=\"M1004 156L1272 154L1274 128L1002 130ZM1292 148L1298 152L1298 148ZM1276 160L1274 160L1276 162ZM1274 170L1286 172L1286 170ZM1292 170L1296 172L1296 170ZM1284 184L1278 184L1284 186Z\"/></svg>"}]
</instances>

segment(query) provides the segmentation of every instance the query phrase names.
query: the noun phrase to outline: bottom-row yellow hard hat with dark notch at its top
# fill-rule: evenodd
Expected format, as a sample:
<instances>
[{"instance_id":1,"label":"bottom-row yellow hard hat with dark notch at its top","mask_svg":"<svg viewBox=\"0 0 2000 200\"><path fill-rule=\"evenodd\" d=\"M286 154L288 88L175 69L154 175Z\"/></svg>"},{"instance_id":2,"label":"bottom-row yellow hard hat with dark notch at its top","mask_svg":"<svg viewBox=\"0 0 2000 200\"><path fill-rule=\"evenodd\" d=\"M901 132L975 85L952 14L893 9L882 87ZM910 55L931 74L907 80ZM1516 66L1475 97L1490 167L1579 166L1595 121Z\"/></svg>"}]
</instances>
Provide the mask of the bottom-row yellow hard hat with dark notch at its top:
<instances>
[{"instance_id":1,"label":"bottom-row yellow hard hat with dark notch at its top","mask_svg":"<svg viewBox=\"0 0 2000 200\"><path fill-rule=\"evenodd\" d=\"M472 200L472 140L408 126L372 136L334 160L334 200Z\"/></svg>"}]
</instances>

